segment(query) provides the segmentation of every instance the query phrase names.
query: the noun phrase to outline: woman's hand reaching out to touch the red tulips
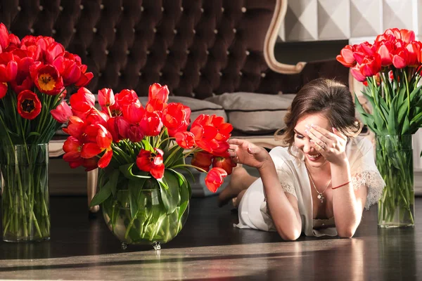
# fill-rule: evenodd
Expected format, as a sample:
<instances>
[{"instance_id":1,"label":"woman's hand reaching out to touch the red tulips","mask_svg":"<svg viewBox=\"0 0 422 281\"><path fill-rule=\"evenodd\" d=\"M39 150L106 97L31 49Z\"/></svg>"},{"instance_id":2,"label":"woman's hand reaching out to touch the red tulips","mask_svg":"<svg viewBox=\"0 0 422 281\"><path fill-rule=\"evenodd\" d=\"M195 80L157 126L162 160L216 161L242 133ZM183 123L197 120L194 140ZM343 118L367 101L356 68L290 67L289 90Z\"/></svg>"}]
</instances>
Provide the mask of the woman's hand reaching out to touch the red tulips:
<instances>
[{"instance_id":1,"label":"woman's hand reaching out to touch the red tulips","mask_svg":"<svg viewBox=\"0 0 422 281\"><path fill-rule=\"evenodd\" d=\"M235 163L262 169L271 160L267 150L248 141L231 138L229 145L229 153Z\"/></svg>"}]
</instances>

